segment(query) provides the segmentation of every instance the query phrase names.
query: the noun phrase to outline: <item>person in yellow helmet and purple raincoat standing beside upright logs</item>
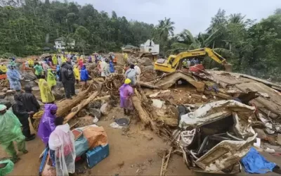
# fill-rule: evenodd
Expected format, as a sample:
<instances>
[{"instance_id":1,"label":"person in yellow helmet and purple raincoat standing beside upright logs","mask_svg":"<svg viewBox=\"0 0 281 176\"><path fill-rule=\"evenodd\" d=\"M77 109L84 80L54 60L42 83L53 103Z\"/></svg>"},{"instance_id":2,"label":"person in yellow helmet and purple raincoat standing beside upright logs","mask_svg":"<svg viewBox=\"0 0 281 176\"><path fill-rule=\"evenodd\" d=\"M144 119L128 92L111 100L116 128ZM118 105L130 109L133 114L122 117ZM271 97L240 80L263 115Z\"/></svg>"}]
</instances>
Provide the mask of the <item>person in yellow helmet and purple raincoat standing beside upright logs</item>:
<instances>
[{"instance_id":1,"label":"person in yellow helmet and purple raincoat standing beside upright logs","mask_svg":"<svg viewBox=\"0 0 281 176\"><path fill-rule=\"evenodd\" d=\"M124 108L124 115L129 115L133 110L133 102L131 96L133 95L133 87L130 85L131 80L126 79L122 87L119 88L120 107Z\"/></svg>"}]
</instances>

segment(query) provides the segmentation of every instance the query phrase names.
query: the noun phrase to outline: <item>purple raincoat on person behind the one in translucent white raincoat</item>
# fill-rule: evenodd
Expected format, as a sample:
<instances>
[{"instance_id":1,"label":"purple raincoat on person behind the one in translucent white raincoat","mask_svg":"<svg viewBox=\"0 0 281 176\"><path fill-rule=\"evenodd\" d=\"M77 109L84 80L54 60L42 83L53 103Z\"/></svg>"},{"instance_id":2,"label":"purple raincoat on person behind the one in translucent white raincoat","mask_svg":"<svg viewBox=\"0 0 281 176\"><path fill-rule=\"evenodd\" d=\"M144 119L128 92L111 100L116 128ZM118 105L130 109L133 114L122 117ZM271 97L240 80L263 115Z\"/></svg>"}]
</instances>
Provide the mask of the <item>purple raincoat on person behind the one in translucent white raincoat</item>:
<instances>
[{"instance_id":1,"label":"purple raincoat on person behind the one in translucent white raincoat","mask_svg":"<svg viewBox=\"0 0 281 176\"><path fill-rule=\"evenodd\" d=\"M51 132L55 130L55 115L51 114L51 110L57 109L58 106L55 104L45 104L45 112L41 118L38 128L38 136L45 145L48 144L48 138L50 137Z\"/></svg>"}]
</instances>

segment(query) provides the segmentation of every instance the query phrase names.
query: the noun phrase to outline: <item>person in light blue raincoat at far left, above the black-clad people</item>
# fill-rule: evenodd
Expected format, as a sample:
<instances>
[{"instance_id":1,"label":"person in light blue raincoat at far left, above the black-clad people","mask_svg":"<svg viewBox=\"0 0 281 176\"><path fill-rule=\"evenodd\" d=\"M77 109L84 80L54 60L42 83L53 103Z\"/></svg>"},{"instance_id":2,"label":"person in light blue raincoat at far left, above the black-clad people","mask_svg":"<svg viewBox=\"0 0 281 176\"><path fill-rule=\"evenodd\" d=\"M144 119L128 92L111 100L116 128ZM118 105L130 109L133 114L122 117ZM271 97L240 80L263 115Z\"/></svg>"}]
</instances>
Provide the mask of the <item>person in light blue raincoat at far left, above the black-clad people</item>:
<instances>
[{"instance_id":1,"label":"person in light blue raincoat at far left, above the black-clad people","mask_svg":"<svg viewBox=\"0 0 281 176\"><path fill-rule=\"evenodd\" d=\"M20 91L22 89L20 73L15 70L13 65L8 65L7 78L10 83L10 89L14 89L15 91Z\"/></svg>"}]
</instances>

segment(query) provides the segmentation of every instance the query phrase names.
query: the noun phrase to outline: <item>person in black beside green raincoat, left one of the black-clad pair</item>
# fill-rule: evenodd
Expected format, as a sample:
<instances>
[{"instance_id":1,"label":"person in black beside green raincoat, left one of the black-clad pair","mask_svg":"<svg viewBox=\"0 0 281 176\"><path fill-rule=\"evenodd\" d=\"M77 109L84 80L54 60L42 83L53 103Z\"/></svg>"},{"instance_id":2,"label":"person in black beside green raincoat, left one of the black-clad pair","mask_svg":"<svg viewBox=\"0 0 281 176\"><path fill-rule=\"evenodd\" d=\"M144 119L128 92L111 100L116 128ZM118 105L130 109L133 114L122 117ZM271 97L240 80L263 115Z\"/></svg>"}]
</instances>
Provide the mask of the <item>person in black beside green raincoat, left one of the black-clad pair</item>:
<instances>
[{"instance_id":1,"label":"person in black beside green raincoat, left one of the black-clad pair","mask_svg":"<svg viewBox=\"0 0 281 176\"><path fill-rule=\"evenodd\" d=\"M23 104L22 94L17 93L14 95L15 103L12 106L13 113L18 117L22 124L22 134L25 135L25 141L31 141L35 138L35 134L30 133L30 122L28 118L30 114L34 114L34 111L27 111Z\"/></svg>"}]
</instances>

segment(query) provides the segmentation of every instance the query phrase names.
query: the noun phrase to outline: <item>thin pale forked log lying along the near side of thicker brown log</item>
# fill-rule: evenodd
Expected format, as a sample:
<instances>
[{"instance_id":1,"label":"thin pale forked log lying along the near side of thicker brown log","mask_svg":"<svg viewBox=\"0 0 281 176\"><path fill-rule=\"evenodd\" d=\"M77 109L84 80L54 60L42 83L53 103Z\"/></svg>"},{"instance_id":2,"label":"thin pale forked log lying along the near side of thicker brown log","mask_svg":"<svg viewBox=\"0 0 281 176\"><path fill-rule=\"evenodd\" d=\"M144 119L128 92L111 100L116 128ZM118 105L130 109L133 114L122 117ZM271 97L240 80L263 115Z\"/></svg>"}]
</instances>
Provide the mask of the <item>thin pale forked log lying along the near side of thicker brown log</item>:
<instances>
[{"instance_id":1,"label":"thin pale forked log lying along the near side of thicker brown log","mask_svg":"<svg viewBox=\"0 0 281 176\"><path fill-rule=\"evenodd\" d=\"M77 106L72 108L71 112L65 117L64 123L67 123L70 119L72 119L82 108L87 106L91 101L97 101L97 100L110 98L110 95L107 95L107 96L103 96L103 97L100 97L98 99L95 99L96 96L98 96L98 94L100 94L100 92L95 92L94 94L89 96L88 99L86 99L84 101L81 101L81 103L79 103Z\"/></svg>"}]
</instances>

